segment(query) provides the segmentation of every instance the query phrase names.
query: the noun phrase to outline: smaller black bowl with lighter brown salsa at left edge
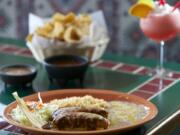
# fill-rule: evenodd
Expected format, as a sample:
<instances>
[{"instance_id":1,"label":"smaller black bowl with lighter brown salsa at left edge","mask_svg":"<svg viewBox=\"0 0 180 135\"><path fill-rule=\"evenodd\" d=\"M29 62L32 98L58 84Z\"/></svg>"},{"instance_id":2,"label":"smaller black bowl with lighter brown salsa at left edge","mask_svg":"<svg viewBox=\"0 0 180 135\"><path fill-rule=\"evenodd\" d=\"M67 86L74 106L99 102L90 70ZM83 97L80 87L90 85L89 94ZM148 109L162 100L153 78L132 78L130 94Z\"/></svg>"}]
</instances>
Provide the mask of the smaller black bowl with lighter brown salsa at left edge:
<instances>
[{"instance_id":1,"label":"smaller black bowl with lighter brown salsa at left edge","mask_svg":"<svg viewBox=\"0 0 180 135\"><path fill-rule=\"evenodd\" d=\"M26 85L33 81L36 74L36 68L31 65L5 65L0 68L0 77L6 85Z\"/></svg>"}]
</instances>

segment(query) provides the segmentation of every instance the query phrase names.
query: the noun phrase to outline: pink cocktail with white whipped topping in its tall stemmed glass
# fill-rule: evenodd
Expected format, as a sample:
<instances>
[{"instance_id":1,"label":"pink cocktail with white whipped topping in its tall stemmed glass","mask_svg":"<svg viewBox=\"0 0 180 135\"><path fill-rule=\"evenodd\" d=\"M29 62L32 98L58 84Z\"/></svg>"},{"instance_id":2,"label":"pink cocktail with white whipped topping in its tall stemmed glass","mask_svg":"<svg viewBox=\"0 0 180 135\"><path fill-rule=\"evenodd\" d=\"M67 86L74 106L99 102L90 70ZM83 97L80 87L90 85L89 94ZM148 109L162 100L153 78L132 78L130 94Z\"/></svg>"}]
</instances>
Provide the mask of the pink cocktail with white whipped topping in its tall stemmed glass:
<instances>
[{"instance_id":1,"label":"pink cocktail with white whipped topping in its tall stemmed glass","mask_svg":"<svg viewBox=\"0 0 180 135\"><path fill-rule=\"evenodd\" d=\"M155 3L155 8L145 18L140 19L140 28L150 39L160 43L160 64L156 73L164 76L163 53L164 41L170 40L180 34L180 11L173 11L173 7L168 4L159 5Z\"/></svg>"}]
</instances>

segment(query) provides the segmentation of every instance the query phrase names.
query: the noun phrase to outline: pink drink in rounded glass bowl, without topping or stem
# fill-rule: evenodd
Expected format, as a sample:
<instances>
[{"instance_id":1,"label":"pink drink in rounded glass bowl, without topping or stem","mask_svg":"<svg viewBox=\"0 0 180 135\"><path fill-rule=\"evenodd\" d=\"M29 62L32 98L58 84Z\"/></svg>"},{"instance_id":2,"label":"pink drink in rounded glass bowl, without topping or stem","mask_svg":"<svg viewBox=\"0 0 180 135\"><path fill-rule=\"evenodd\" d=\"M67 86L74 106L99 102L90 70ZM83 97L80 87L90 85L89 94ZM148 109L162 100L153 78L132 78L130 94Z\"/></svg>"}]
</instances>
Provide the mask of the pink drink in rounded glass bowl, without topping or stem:
<instances>
[{"instance_id":1,"label":"pink drink in rounded glass bowl, without topping or stem","mask_svg":"<svg viewBox=\"0 0 180 135\"><path fill-rule=\"evenodd\" d=\"M140 27L150 39L157 42L167 41L179 33L180 13L150 14L140 20Z\"/></svg>"}]
</instances>

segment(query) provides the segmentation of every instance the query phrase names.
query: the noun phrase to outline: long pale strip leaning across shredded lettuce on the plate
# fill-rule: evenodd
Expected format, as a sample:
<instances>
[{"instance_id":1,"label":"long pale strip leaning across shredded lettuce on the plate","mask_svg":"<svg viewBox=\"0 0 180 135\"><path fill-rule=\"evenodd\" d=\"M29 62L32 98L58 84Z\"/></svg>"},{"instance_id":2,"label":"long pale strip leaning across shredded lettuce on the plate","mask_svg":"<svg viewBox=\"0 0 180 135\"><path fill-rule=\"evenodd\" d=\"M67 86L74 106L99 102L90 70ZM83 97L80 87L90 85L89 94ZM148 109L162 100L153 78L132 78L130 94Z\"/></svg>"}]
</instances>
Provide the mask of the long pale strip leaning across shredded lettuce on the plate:
<instances>
[{"instance_id":1,"label":"long pale strip leaning across shredded lettuce on the plate","mask_svg":"<svg viewBox=\"0 0 180 135\"><path fill-rule=\"evenodd\" d=\"M14 96L14 98L17 101L17 104L19 105L19 108L21 109L21 111L24 113L24 115L27 117L27 119L29 120L29 122L37 128L42 128L43 125L46 124L46 122L42 121L41 119L39 119L34 113L32 113L26 103L24 102L24 100L22 98L20 98L18 96L17 92L12 93L12 95Z\"/></svg>"}]
</instances>

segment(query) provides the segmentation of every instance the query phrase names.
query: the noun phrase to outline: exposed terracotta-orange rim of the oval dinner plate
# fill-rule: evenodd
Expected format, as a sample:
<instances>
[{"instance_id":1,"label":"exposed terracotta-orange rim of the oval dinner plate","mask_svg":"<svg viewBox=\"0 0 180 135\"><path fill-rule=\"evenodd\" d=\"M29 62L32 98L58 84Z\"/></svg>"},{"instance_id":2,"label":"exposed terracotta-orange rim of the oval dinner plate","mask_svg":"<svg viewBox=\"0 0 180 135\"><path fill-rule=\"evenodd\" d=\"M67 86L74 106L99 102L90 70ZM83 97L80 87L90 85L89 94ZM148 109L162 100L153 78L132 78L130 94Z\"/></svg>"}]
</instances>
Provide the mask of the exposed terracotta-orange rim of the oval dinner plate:
<instances>
[{"instance_id":1,"label":"exposed terracotta-orange rim of the oval dinner plate","mask_svg":"<svg viewBox=\"0 0 180 135\"><path fill-rule=\"evenodd\" d=\"M13 108L16 107L17 103L13 102L9 104L4 112L4 119L12 124L15 125L19 128L22 128L23 130L33 133L33 134L48 134L48 135L112 135L112 134L118 134L122 133L125 131L132 130L134 128L137 128L139 126L142 126L143 124L147 123L148 121L152 120L156 115L157 115L157 108L154 104L150 103L149 101L146 101L143 98L125 94L125 93L120 93L120 92L115 92L115 91L110 91L110 90L95 90L95 89L71 89L71 90L56 90L56 91L48 91L48 92L42 92L41 96L44 102L48 102L52 99L61 99L65 97L72 97L72 96L85 96L85 95L91 95L96 98L101 98L106 101L127 101L127 102L132 102L135 104L141 104L149 108L149 113L148 115L142 119L136 122L133 125L129 126L118 126L116 128L109 128L105 130L96 130L96 131L57 131L57 130L44 130L44 129L38 129L38 128L33 128L33 127L28 127L21 125L14 121L10 115L11 111ZM24 98L26 101L37 101L38 96L37 94L33 94L30 96L27 96Z\"/></svg>"}]
</instances>

